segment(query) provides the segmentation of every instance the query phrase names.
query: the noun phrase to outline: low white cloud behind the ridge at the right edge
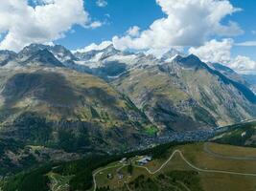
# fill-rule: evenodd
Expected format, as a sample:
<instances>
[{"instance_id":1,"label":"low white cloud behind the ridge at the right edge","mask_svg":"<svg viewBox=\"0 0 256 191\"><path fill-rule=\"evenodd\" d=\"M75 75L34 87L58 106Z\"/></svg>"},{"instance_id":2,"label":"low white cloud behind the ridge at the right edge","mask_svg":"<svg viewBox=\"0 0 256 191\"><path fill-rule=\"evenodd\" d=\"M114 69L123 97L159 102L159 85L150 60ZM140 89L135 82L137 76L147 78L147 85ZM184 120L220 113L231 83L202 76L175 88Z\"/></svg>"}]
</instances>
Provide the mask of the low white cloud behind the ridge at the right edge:
<instances>
[{"instance_id":1,"label":"low white cloud behind the ridge at the right edge","mask_svg":"<svg viewBox=\"0 0 256 191\"><path fill-rule=\"evenodd\" d=\"M256 74L256 62L249 57L238 55L231 56L231 49L236 45L232 39L221 41L211 40L198 48L190 48L189 53L198 55L204 62L224 64L240 74Z\"/></svg>"}]
</instances>

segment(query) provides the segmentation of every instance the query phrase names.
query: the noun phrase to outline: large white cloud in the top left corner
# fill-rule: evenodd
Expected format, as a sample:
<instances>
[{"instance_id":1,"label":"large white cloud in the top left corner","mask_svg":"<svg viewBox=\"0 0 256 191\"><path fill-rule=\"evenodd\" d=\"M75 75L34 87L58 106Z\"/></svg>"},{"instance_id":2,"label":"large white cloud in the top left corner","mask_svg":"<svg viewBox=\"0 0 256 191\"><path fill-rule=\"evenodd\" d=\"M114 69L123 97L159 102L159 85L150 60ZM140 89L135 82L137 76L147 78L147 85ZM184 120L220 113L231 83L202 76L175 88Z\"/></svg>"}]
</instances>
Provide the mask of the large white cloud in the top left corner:
<instances>
[{"instance_id":1,"label":"large white cloud in the top left corner","mask_svg":"<svg viewBox=\"0 0 256 191\"><path fill-rule=\"evenodd\" d=\"M0 6L0 49L19 51L30 43L45 43L64 36L73 25L90 22L83 0L5 0Z\"/></svg>"}]
</instances>

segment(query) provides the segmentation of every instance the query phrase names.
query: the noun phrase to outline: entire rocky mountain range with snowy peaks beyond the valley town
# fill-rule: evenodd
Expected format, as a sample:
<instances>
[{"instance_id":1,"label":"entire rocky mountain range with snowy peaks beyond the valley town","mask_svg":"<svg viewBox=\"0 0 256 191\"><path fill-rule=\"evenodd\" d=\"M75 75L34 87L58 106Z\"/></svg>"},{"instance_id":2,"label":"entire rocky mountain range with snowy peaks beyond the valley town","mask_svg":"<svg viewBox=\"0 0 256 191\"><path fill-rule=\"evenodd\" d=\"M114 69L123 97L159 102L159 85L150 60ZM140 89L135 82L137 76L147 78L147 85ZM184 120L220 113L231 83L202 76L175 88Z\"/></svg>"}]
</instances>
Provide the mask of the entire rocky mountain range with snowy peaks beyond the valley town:
<instances>
[{"instance_id":1,"label":"entire rocky mountain range with snowy peaks beyond the valley town","mask_svg":"<svg viewBox=\"0 0 256 191\"><path fill-rule=\"evenodd\" d=\"M161 58L112 45L85 53L40 44L1 51L0 140L102 153L233 124L256 117L246 77L175 50ZM19 165L24 148L0 147L0 160Z\"/></svg>"}]
</instances>

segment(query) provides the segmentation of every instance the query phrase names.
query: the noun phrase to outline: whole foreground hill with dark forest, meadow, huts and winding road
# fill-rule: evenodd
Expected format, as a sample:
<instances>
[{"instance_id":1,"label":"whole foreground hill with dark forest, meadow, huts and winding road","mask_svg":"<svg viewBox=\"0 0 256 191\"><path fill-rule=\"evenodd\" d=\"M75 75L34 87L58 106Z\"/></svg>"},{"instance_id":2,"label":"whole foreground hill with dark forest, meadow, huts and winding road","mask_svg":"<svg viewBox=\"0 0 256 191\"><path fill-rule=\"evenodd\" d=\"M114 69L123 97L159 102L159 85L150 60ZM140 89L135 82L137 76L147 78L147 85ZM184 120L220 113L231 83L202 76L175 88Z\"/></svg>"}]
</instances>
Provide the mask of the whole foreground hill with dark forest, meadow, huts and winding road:
<instances>
[{"instance_id":1,"label":"whole foreground hill with dark forest, meadow, huts and winding road","mask_svg":"<svg viewBox=\"0 0 256 191\"><path fill-rule=\"evenodd\" d=\"M142 156L152 160L140 166L136 161ZM121 163L124 157L127 160ZM253 191L256 148L170 143L122 156L48 164L5 179L0 187L4 191Z\"/></svg>"}]
</instances>

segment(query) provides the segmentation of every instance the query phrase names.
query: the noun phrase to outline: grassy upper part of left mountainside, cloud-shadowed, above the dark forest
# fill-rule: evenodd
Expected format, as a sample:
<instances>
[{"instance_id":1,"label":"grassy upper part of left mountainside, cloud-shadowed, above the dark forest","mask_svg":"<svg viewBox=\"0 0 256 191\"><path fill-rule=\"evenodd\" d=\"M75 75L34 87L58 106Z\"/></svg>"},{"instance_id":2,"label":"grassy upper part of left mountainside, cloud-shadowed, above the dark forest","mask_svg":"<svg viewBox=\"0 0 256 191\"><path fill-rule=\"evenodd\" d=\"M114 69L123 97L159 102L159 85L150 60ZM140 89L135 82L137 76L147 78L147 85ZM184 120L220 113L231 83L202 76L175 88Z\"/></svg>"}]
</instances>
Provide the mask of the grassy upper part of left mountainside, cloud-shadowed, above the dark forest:
<instances>
[{"instance_id":1,"label":"grassy upper part of left mountainside, cloud-shadowed, above the dark forest","mask_svg":"<svg viewBox=\"0 0 256 191\"><path fill-rule=\"evenodd\" d=\"M88 106L93 107L99 116L109 112L113 119L120 119L115 110L128 108L122 96L103 80L89 74L62 69L51 72L49 69L1 72L0 77L2 109L25 109L47 115L50 119L88 120L98 117L91 114ZM105 108L106 111L100 111Z\"/></svg>"}]
</instances>

